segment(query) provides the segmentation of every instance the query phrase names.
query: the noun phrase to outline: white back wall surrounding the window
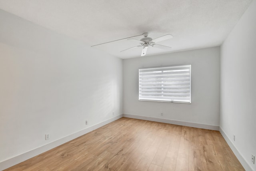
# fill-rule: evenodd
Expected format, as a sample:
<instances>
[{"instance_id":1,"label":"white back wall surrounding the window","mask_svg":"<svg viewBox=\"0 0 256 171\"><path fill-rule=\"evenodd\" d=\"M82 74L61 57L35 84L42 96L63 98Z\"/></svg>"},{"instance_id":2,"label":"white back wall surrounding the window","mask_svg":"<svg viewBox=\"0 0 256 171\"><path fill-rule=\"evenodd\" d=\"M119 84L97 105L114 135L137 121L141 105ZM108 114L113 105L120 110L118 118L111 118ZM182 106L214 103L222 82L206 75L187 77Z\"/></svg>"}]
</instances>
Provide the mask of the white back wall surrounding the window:
<instances>
[{"instance_id":1,"label":"white back wall surrounding the window","mask_svg":"<svg viewBox=\"0 0 256 171\"><path fill-rule=\"evenodd\" d=\"M138 101L138 68L175 64L192 65L191 104ZM127 59L123 61L123 75L124 114L178 120L183 122L178 124L184 125L200 123L219 126L219 47Z\"/></svg>"}]
</instances>

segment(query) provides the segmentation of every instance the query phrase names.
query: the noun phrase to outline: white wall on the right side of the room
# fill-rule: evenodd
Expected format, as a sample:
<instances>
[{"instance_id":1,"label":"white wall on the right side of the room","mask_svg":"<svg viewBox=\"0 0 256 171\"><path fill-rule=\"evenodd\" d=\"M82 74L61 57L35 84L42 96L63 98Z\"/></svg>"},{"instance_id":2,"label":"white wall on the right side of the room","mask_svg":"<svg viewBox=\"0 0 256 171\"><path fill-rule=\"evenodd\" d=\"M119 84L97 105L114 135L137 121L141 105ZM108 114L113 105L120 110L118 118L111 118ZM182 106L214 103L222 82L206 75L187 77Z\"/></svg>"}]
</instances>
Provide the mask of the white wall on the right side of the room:
<instances>
[{"instance_id":1,"label":"white wall on the right side of the room","mask_svg":"<svg viewBox=\"0 0 256 171\"><path fill-rule=\"evenodd\" d=\"M221 46L220 129L254 170L256 163L253 165L250 157L252 153L256 155L255 65L256 0L253 0Z\"/></svg>"}]
</instances>

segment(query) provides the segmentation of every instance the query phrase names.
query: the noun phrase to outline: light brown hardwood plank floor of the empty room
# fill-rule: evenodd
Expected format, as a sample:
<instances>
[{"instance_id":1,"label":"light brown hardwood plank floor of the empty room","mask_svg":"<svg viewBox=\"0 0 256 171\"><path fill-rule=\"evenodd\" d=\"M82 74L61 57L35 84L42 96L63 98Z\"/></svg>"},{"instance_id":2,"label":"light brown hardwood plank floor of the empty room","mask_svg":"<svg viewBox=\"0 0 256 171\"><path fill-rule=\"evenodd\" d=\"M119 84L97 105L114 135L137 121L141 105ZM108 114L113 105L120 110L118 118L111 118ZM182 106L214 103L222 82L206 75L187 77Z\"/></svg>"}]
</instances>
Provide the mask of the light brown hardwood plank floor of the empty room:
<instances>
[{"instance_id":1,"label":"light brown hardwood plank floor of the empty room","mask_svg":"<svg viewBox=\"0 0 256 171\"><path fill-rule=\"evenodd\" d=\"M6 171L243 171L219 131L122 117Z\"/></svg>"}]
</instances>

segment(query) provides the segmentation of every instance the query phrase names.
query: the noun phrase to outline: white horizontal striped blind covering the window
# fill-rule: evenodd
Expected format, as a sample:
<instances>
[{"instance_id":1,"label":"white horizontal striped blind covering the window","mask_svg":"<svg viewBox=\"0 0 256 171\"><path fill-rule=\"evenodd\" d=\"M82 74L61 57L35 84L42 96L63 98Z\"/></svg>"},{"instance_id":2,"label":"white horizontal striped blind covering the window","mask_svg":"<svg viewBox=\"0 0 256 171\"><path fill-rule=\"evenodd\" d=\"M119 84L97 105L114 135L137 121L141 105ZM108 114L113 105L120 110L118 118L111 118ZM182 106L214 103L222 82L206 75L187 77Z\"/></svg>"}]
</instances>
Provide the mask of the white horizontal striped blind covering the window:
<instances>
[{"instance_id":1,"label":"white horizontal striped blind covering the window","mask_svg":"<svg viewBox=\"0 0 256 171\"><path fill-rule=\"evenodd\" d=\"M139 69L139 100L191 103L191 65Z\"/></svg>"}]
</instances>

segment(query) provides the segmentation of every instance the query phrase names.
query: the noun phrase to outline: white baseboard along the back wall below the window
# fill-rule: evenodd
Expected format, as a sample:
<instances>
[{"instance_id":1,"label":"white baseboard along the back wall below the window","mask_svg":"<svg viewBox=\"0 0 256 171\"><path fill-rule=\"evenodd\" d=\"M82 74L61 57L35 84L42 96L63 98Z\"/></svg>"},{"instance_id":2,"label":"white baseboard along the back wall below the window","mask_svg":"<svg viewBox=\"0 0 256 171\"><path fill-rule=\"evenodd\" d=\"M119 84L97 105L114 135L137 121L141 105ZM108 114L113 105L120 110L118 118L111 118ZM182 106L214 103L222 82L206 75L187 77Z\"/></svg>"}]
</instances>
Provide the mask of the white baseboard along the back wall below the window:
<instances>
[{"instance_id":1,"label":"white baseboard along the back wall below the window","mask_svg":"<svg viewBox=\"0 0 256 171\"><path fill-rule=\"evenodd\" d=\"M196 127L196 128L202 128L202 129L210 129L210 130L216 130L216 131L219 130L219 126L217 125L206 125L202 123L177 121L177 120L163 119L158 117L148 117L148 116L140 116L140 115L132 115L132 114L123 114L123 117L130 117L134 119L142 119L142 120L156 121L156 122L162 122L162 123L170 123L174 125L182 125L182 126Z\"/></svg>"}]
</instances>

